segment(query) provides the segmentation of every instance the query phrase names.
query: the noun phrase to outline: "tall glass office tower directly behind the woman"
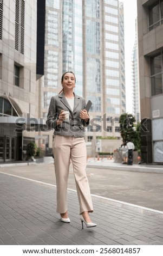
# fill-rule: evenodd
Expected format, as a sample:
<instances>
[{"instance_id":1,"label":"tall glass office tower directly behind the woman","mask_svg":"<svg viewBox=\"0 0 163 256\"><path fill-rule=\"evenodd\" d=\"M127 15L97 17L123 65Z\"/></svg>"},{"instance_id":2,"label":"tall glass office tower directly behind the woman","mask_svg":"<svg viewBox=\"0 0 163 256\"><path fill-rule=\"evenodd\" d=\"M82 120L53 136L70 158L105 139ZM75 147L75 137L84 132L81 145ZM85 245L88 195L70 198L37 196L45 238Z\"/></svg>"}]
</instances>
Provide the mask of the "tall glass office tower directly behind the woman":
<instances>
[{"instance_id":1,"label":"tall glass office tower directly behind the woman","mask_svg":"<svg viewBox=\"0 0 163 256\"><path fill-rule=\"evenodd\" d=\"M123 25L118 0L46 1L44 117L51 96L61 90L63 72L73 71L75 93L93 102L89 114L98 123L96 135L90 126L87 139L120 139L118 120L126 112Z\"/></svg>"}]
</instances>

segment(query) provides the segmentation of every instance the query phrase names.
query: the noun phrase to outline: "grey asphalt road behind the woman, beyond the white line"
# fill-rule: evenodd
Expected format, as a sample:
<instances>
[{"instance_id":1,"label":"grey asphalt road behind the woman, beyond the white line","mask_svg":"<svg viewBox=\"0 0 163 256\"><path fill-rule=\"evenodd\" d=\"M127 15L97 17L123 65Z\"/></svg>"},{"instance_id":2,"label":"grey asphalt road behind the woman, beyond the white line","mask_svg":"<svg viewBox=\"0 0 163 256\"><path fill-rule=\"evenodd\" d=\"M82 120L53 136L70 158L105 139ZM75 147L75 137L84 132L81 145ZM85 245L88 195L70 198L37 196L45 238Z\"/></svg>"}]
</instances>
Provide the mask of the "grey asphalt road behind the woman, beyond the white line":
<instances>
[{"instance_id":1,"label":"grey asphalt road behind the woman, beyond the white line","mask_svg":"<svg viewBox=\"0 0 163 256\"><path fill-rule=\"evenodd\" d=\"M0 168L0 172L56 184L53 163L3 167ZM92 194L163 211L161 173L87 168L87 176ZM72 166L68 188L76 190Z\"/></svg>"}]
</instances>

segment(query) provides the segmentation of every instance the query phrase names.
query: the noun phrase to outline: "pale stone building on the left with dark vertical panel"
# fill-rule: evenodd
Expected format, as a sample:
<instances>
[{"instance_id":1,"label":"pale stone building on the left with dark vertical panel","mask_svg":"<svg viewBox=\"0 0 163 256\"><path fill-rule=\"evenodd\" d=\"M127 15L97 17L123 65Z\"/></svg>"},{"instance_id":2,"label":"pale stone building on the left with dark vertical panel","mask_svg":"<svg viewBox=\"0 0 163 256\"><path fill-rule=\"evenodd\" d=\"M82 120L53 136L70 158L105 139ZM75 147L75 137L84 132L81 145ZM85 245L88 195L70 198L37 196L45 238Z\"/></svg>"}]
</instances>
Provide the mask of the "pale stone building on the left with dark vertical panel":
<instances>
[{"instance_id":1,"label":"pale stone building on the left with dark vertical panel","mask_svg":"<svg viewBox=\"0 0 163 256\"><path fill-rule=\"evenodd\" d=\"M44 66L44 53L37 59L37 21L38 14L43 14L43 2L0 1L0 161L22 160L26 145L35 142L32 126L36 123L38 128L39 123L37 75L43 75ZM31 122L30 118L35 119Z\"/></svg>"}]
</instances>

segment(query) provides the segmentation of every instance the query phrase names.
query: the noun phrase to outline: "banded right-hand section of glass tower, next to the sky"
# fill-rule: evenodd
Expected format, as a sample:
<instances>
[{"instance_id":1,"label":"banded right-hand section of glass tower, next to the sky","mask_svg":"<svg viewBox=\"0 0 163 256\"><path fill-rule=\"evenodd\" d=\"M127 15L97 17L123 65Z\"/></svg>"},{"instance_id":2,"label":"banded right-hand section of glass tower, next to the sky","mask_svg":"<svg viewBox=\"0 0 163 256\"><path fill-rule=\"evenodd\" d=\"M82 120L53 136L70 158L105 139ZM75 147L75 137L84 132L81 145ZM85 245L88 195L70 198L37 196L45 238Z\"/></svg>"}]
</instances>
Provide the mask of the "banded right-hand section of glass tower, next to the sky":
<instances>
[{"instance_id":1,"label":"banded right-hand section of glass tower, next to the sky","mask_svg":"<svg viewBox=\"0 0 163 256\"><path fill-rule=\"evenodd\" d=\"M116 118L126 111L123 4L118 0L105 1L104 19L105 109L108 116Z\"/></svg>"}]
</instances>

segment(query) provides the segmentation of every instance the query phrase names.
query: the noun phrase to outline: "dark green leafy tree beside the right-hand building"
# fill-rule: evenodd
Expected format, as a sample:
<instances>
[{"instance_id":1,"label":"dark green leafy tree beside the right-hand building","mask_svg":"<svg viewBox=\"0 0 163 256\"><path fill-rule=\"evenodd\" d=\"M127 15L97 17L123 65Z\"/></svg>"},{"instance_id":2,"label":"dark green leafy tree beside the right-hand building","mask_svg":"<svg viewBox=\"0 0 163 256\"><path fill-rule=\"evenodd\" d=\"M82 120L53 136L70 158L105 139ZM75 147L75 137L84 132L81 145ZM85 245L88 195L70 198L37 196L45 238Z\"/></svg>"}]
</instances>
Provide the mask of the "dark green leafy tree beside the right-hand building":
<instances>
[{"instance_id":1,"label":"dark green leafy tree beside the right-hand building","mask_svg":"<svg viewBox=\"0 0 163 256\"><path fill-rule=\"evenodd\" d=\"M135 150L140 152L140 123L136 124L135 121L133 114L121 114L119 119L120 134L123 142L127 143L131 140L135 145Z\"/></svg>"}]
</instances>

